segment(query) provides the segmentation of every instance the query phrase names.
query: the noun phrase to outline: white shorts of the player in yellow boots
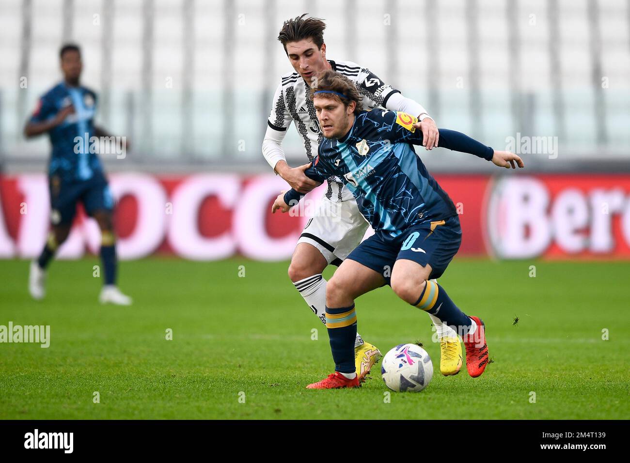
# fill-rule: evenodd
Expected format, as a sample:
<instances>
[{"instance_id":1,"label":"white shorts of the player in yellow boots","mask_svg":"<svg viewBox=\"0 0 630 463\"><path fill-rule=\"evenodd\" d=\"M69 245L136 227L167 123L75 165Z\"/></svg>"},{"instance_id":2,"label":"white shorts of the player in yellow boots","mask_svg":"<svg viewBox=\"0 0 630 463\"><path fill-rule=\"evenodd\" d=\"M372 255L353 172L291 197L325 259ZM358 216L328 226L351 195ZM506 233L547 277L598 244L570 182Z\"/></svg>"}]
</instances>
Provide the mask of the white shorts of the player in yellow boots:
<instances>
[{"instance_id":1,"label":"white shorts of the player in yellow boots","mask_svg":"<svg viewBox=\"0 0 630 463\"><path fill-rule=\"evenodd\" d=\"M368 226L354 198L332 202L324 196L297 243L312 244L329 264L340 265L361 243Z\"/></svg>"}]
</instances>

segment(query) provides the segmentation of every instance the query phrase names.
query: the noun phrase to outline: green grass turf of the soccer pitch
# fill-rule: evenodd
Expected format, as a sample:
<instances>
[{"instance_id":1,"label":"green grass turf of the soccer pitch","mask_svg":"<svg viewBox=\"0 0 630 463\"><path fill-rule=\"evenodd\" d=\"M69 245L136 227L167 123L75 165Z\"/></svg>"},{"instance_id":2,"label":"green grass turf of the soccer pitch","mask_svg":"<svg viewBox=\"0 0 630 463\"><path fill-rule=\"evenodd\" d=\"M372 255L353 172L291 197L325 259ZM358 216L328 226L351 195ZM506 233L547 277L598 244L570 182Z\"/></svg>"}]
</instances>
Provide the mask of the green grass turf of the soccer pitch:
<instances>
[{"instance_id":1,"label":"green grass turf of the soccer pitch","mask_svg":"<svg viewBox=\"0 0 630 463\"><path fill-rule=\"evenodd\" d=\"M456 259L440 283L486 323L494 362L478 379L465 369L456 377L438 373L428 316L388 287L361 297L358 328L366 340L384 352L420 340L437 370L425 391L392 392L389 403L380 367L361 389L304 389L333 365L326 329L292 287L287 263L123 262L121 287L134 297L132 307L96 302L96 264L54 262L47 297L34 302L28 262L0 261L0 324L51 330L47 349L0 344L0 418L630 416L630 263ZM167 328L173 340L165 339ZM602 340L604 328L609 340Z\"/></svg>"}]
</instances>

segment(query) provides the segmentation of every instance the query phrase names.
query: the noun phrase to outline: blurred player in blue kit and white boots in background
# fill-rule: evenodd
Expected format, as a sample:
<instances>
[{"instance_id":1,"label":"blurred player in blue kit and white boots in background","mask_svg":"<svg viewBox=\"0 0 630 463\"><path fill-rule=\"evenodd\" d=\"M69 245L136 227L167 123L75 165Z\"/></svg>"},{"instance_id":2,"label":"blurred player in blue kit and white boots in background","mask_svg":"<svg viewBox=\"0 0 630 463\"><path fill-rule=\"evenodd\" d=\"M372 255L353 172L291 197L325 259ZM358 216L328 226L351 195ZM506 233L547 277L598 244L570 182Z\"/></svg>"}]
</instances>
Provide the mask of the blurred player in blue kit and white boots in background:
<instances>
[{"instance_id":1,"label":"blurred player in blue kit and white boots in background","mask_svg":"<svg viewBox=\"0 0 630 463\"><path fill-rule=\"evenodd\" d=\"M64 80L43 94L24 129L28 138L48 134L52 144L48 174L51 230L42 253L31 262L28 289L33 299L45 296L46 269L68 237L77 203L81 202L101 230L104 278L99 300L101 304L129 306L131 298L116 285L114 200L101 162L89 150L90 137L110 135L94 125L96 94L79 83L81 50L76 45L64 45L59 55Z\"/></svg>"}]
</instances>

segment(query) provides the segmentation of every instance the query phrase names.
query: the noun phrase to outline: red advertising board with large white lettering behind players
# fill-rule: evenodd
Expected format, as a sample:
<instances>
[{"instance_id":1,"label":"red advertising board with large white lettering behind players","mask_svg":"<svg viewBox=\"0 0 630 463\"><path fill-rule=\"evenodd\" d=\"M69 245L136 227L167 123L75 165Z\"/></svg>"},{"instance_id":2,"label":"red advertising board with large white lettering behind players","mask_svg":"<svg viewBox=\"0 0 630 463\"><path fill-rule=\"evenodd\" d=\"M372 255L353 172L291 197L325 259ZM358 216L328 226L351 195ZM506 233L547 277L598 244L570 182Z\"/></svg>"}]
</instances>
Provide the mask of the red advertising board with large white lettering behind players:
<instances>
[{"instance_id":1,"label":"red advertising board with large white lettering behind players","mask_svg":"<svg viewBox=\"0 0 630 463\"><path fill-rule=\"evenodd\" d=\"M460 214L460 255L630 258L630 175L438 175ZM217 260L290 258L323 187L304 214L271 214L287 185L261 174L110 175L122 259L173 254ZM49 222L44 175L0 176L0 258L32 258ZM296 209L297 210L297 209ZM60 258L96 253L100 234L79 211Z\"/></svg>"}]
</instances>

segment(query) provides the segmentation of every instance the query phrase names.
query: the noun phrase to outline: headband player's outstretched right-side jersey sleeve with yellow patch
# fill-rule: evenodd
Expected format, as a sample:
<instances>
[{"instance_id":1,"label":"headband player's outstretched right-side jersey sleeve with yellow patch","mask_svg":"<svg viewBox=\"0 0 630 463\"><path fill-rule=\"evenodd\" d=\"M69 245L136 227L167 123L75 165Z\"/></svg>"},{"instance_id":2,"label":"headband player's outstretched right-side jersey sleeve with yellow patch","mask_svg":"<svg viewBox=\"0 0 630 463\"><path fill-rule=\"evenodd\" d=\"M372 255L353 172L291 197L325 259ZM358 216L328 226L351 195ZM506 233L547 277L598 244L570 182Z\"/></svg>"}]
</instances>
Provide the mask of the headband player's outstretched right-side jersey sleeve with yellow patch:
<instances>
[{"instance_id":1,"label":"headband player's outstretched right-side jersey sleeve with yellow patch","mask_svg":"<svg viewBox=\"0 0 630 463\"><path fill-rule=\"evenodd\" d=\"M376 123L381 139L394 143L422 144L422 131L413 127L418 118L401 111L372 110L368 114L370 120ZM449 129L440 131L440 148L452 151L467 152L488 161L492 160L494 150L490 146L472 139L468 135ZM442 132L444 130L444 132ZM444 134L444 137L442 137Z\"/></svg>"}]
</instances>

